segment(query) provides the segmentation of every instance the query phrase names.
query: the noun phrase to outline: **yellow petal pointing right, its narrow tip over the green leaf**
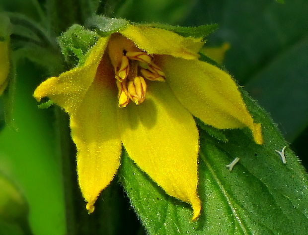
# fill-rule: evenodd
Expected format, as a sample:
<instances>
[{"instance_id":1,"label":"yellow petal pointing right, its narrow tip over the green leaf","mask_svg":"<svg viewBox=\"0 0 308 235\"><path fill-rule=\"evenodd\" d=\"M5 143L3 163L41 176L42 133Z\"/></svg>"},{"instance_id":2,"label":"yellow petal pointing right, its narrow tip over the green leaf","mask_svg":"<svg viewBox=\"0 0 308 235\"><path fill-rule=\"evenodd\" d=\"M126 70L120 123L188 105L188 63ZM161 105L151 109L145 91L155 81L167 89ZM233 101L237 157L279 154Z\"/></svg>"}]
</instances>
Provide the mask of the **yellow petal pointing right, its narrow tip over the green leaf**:
<instances>
[{"instance_id":1,"label":"yellow petal pointing right, its narrow tip over the green leaf","mask_svg":"<svg viewBox=\"0 0 308 235\"><path fill-rule=\"evenodd\" d=\"M216 128L249 127L262 144L261 125L253 122L231 76L199 60L161 56L156 62L166 82L188 111Z\"/></svg>"}]
</instances>

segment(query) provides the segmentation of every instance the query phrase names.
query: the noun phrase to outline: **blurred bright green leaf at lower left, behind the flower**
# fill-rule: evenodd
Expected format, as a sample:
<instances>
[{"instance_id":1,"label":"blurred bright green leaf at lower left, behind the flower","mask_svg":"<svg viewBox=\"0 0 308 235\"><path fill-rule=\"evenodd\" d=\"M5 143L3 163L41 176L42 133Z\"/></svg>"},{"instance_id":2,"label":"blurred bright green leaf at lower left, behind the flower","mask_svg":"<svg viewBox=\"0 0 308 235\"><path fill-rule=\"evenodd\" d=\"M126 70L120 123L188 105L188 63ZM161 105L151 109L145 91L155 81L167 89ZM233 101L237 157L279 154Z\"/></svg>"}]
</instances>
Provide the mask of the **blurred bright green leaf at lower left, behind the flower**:
<instances>
[{"instance_id":1,"label":"blurred bright green leaf at lower left, behind the flower","mask_svg":"<svg viewBox=\"0 0 308 235\"><path fill-rule=\"evenodd\" d=\"M38 75L40 74L40 75ZM37 109L32 93L45 72L28 60L18 64L13 118L17 130L0 132L0 170L12 178L29 205L34 234L64 234L63 177L52 110Z\"/></svg>"}]
</instances>

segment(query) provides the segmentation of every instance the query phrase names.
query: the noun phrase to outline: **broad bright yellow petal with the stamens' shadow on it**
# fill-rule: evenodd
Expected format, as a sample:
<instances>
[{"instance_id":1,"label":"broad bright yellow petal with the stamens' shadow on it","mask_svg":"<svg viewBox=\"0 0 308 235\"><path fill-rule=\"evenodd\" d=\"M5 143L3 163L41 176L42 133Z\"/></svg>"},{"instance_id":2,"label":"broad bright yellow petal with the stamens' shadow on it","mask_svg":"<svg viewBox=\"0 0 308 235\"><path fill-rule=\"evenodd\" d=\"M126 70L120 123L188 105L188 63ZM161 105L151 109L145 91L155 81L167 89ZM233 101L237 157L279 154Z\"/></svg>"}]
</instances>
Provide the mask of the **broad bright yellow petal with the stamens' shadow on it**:
<instances>
[{"instance_id":1,"label":"broad bright yellow petal with the stamens' shadow on it","mask_svg":"<svg viewBox=\"0 0 308 235\"><path fill-rule=\"evenodd\" d=\"M122 142L129 156L167 194L192 205L197 195L198 130L165 83L149 82L145 102L118 109Z\"/></svg>"}]
</instances>

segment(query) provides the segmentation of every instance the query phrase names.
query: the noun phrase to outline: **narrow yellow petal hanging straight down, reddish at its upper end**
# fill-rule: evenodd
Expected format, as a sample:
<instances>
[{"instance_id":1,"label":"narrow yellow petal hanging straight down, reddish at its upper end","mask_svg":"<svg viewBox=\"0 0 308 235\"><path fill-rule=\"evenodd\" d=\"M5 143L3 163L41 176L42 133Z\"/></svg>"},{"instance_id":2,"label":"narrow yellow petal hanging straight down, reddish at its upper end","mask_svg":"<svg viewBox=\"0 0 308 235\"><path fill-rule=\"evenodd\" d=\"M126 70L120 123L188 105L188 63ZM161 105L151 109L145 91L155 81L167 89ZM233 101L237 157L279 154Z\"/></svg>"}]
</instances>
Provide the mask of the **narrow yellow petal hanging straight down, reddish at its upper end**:
<instances>
[{"instance_id":1,"label":"narrow yellow petal hanging straight down, reddish at its upper end","mask_svg":"<svg viewBox=\"0 0 308 235\"><path fill-rule=\"evenodd\" d=\"M89 213L94 202L115 175L121 154L116 119L117 90L110 61L103 57L96 78L76 114L71 115L72 138L77 146L77 173ZM107 66L105 66L107 65Z\"/></svg>"}]
</instances>

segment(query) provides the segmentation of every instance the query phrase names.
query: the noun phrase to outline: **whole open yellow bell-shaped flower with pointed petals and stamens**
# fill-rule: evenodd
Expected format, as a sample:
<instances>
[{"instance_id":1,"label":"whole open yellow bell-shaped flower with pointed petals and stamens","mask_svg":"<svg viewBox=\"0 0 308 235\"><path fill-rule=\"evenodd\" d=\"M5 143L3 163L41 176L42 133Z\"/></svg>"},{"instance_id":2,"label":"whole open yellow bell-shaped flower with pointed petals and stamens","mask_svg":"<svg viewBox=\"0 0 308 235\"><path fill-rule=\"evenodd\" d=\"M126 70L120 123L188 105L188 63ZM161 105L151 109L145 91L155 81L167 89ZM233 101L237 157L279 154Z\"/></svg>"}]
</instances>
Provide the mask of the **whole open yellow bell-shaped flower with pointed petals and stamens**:
<instances>
[{"instance_id":1,"label":"whole open yellow bell-shaped flower with pointed petals and stamens","mask_svg":"<svg viewBox=\"0 0 308 235\"><path fill-rule=\"evenodd\" d=\"M130 158L198 218L199 135L193 116L220 129L248 127L262 143L230 75L198 60L203 42L128 25L101 37L87 59L34 92L70 115L79 185L91 213L116 174L122 143ZM134 104L135 103L135 104Z\"/></svg>"}]
</instances>

